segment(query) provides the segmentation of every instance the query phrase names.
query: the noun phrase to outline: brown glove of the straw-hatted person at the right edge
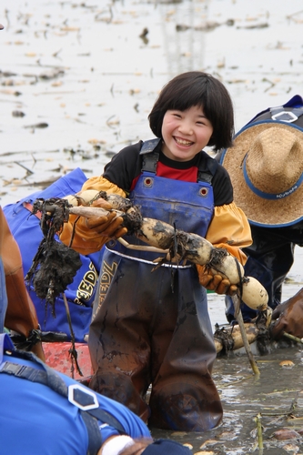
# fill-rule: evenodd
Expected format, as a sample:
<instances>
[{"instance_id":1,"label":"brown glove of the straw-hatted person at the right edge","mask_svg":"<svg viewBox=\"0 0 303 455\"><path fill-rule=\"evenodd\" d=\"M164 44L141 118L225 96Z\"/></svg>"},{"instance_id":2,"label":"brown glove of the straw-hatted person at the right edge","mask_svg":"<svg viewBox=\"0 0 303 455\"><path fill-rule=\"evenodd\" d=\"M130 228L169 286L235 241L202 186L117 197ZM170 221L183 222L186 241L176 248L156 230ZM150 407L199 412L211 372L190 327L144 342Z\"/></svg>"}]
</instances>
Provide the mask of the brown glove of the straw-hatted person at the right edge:
<instances>
[{"instance_id":1,"label":"brown glove of the straw-hatted person at the right edge","mask_svg":"<svg viewBox=\"0 0 303 455\"><path fill-rule=\"evenodd\" d=\"M281 337L283 332L303 338L303 288L292 298L280 303L273 311L272 319L277 319L270 328L274 338Z\"/></svg>"}]
</instances>

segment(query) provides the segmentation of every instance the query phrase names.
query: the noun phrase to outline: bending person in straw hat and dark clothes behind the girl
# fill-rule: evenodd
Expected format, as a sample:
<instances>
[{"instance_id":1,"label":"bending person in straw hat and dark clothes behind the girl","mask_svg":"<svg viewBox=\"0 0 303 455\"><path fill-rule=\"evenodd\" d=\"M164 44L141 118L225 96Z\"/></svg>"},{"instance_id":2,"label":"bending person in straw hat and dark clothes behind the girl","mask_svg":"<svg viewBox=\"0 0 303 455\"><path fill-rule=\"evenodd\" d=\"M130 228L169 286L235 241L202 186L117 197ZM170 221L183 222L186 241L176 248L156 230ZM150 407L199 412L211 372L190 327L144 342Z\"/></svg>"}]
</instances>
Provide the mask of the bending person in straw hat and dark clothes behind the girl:
<instances>
[{"instance_id":1,"label":"bending person in straw hat and dark clothes behind the girl","mask_svg":"<svg viewBox=\"0 0 303 455\"><path fill-rule=\"evenodd\" d=\"M237 133L234 147L225 149L219 160L231 177L235 203L251 227L253 244L243 249L248 256L245 273L262 283L268 291L268 306L275 309L294 261L294 248L303 246L302 97L293 96L283 106L260 112ZM274 311L274 319L281 307ZM229 297L226 312L232 322ZM242 313L245 321L257 316L245 305ZM302 337L303 324L301 330Z\"/></svg>"}]
</instances>

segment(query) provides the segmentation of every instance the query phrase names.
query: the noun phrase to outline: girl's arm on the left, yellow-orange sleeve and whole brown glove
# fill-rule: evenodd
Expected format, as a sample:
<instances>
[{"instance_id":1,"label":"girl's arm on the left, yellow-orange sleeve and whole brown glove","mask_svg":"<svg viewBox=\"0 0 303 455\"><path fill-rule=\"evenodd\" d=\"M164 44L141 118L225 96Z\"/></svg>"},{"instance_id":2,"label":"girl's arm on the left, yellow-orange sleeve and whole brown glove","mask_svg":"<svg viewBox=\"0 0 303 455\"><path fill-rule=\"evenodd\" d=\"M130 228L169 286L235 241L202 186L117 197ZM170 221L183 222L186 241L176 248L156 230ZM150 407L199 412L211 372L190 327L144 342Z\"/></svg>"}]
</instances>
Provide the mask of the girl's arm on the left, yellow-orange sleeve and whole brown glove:
<instances>
[{"instance_id":1,"label":"girl's arm on the left, yellow-orange sleeve and whole brown glove","mask_svg":"<svg viewBox=\"0 0 303 455\"><path fill-rule=\"evenodd\" d=\"M91 177L86 180L81 191L86 189L96 189L96 191L106 191L107 194L116 194L126 197L123 189L116 187L104 177ZM80 194L81 191L78 193ZM98 202L99 201L99 202ZM99 199L93 204L110 210L111 205ZM115 212L107 217L96 217L87 220L86 217L70 215L68 222L65 223L60 234L60 240L68 247L76 249L80 254L87 255L100 250L109 238L118 238L126 234L126 228L121 227L122 217L116 217Z\"/></svg>"}]
</instances>

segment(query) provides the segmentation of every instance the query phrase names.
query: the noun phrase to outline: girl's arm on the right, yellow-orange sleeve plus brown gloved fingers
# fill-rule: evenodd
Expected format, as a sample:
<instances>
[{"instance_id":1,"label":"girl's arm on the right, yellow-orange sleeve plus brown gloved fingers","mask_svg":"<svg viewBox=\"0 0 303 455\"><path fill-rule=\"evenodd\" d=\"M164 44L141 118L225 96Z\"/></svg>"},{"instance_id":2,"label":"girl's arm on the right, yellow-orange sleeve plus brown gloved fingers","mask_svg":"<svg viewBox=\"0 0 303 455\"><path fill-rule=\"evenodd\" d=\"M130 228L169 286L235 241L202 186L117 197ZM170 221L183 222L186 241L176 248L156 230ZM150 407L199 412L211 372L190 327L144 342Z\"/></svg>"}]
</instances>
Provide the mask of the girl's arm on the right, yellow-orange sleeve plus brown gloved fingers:
<instances>
[{"instance_id":1,"label":"girl's arm on the right, yellow-orange sleeve plus brown gloved fingers","mask_svg":"<svg viewBox=\"0 0 303 455\"><path fill-rule=\"evenodd\" d=\"M246 215L234 202L215 207L206 238L215 248L226 248L240 264L245 265L247 257L241 248L251 245L251 232ZM197 265L197 273L200 284L217 294L234 295L237 291L237 286L230 285L227 278L212 274L205 266Z\"/></svg>"}]
</instances>

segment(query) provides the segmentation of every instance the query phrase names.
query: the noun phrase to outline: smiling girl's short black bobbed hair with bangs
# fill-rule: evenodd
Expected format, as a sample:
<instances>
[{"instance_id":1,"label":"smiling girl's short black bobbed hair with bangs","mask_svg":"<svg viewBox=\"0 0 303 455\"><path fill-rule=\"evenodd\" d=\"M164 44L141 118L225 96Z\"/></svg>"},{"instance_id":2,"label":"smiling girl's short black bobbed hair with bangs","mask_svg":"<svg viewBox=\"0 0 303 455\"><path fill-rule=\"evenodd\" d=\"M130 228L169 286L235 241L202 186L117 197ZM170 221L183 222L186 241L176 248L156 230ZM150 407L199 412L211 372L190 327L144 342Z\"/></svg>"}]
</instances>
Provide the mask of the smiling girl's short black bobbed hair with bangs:
<instances>
[{"instance_id":1,"label":"smiling girl's short black bobbed hair with bangs","mask_svg":"<svg viewBox=\"0 0 303 455\"><path fill-rule=\"evenodd\" d=\"M235 126L231 98L218 79L201 71L178 75L162 88L148 116L154 135L162 138L163 118L167 110L186 111L192 106L202 107L213 126L207 146L214 147L216 151L232 147Z\"/></svg>"}]
</instances>

